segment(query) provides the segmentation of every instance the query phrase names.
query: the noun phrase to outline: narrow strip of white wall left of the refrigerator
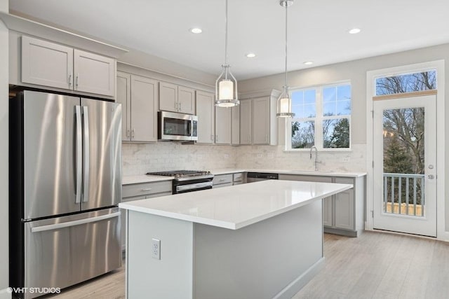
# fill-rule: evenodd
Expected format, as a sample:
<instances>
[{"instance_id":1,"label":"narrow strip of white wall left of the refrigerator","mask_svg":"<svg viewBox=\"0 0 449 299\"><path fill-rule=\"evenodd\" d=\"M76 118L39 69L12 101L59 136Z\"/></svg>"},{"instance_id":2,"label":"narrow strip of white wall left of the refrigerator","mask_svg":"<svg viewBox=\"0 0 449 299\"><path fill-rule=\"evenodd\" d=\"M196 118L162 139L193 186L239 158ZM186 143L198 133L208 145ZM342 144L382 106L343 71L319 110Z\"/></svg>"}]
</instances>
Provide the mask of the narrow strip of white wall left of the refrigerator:
<instances>
[{"instance_id":1,"label":"narrow strip of white wall left of the refrigerator","mask_svg":"<svg viewBox=\"0 0 449 299\"><path fill-rule=\"evenodd\" d=\"M8 0L0 0L0 11L8 12ZM8 255L8 29L0 21L0 298L11 298Z\"/></svg>"}]
</instances>

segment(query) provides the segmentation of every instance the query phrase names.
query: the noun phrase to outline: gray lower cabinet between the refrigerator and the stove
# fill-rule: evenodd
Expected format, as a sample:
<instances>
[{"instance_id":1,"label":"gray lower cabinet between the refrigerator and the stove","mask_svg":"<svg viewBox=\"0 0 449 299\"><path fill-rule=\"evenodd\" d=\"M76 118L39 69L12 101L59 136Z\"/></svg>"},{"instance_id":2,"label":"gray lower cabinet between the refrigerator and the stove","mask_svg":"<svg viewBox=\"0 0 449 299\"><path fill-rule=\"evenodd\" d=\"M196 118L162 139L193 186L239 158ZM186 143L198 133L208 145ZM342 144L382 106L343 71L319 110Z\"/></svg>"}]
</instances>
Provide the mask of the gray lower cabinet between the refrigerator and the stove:
<instances>
[{"instance_id":1,"label":"gray lower cabinet between the refrigerator and the stove","mask_svg":"<svg viewBox=\"0 0 449 299\"><path fill-rule=\"evenodd\" d=\"M172 181L131 183L123 185L121 202L145 200L147 198L172 195ZM126 249L126 210L121 210L121 250Z\"/></svg>"}]
</instances>

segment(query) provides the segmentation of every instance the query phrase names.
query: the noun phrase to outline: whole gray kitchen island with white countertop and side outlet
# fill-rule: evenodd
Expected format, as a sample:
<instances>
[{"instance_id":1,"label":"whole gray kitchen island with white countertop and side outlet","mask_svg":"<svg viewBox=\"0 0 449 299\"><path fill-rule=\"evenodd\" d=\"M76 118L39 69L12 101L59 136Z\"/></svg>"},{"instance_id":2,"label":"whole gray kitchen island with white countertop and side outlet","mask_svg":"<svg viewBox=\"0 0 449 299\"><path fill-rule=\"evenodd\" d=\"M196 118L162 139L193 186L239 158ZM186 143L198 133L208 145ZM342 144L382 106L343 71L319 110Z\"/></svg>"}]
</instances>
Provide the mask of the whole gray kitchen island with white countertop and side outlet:
<instances>
[{"instance_id":1,"label":"whole gray kitchen island with white countertop and side outlet","mask_svg":"<svg viewBox=\"0 0 449 299\"><path fill-rule=\"evenodd\" d=\"M119 204L128 298L291 298L323 266L323 197L350 184L260 181Z\"/></svg>"}]
</instances>

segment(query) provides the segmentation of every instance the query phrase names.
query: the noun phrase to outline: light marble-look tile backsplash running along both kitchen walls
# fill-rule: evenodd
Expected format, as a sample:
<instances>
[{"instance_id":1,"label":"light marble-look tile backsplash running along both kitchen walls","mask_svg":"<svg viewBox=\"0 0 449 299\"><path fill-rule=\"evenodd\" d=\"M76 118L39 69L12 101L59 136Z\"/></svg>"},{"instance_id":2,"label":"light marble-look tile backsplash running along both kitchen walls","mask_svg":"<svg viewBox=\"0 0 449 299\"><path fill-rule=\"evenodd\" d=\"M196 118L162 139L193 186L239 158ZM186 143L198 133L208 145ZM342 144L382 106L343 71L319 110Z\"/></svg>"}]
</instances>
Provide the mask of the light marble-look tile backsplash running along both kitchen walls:
<instances>
[{"instance_id":1,"label":"light marble-look tile backsplash running along both kitchen walls","mask_svg":"<svg viewBox=\"0 0 449 299\"><path fill-rule=\"evenodd\" d=\"M319 170L366 172L366 144L351 151L319 151ZM176 142L123 144L123 176L174 169L314 170L314 154L286 152L283 146L208 146Z\"/></svg>"}]
</instances>

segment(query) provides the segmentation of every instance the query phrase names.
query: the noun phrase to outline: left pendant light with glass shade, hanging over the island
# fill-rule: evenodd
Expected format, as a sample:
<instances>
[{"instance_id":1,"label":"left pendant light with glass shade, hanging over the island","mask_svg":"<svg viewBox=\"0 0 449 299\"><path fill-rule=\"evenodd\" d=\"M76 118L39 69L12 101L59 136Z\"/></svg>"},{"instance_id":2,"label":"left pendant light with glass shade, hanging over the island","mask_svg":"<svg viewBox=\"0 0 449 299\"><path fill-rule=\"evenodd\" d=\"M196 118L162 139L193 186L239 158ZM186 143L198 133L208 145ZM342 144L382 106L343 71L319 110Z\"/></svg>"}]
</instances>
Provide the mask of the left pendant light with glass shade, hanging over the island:
<instances>
[{"instance_id":1,"label":"left pendant light with glass shade, hanging over the island","mask_svg":"<svg viewBox=\"0 0 449 299\"><path fill-rule=\"evenodd\" d=\"M215 81L215 106L233 107L240 104L237 97L237 81L227 64L227 0L225 16L225 64L222 64L222 74Z\"/></svg>"}]
</instances>

